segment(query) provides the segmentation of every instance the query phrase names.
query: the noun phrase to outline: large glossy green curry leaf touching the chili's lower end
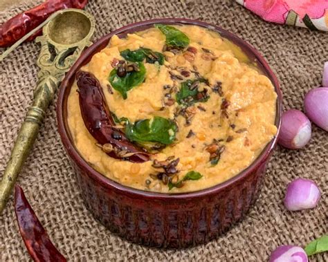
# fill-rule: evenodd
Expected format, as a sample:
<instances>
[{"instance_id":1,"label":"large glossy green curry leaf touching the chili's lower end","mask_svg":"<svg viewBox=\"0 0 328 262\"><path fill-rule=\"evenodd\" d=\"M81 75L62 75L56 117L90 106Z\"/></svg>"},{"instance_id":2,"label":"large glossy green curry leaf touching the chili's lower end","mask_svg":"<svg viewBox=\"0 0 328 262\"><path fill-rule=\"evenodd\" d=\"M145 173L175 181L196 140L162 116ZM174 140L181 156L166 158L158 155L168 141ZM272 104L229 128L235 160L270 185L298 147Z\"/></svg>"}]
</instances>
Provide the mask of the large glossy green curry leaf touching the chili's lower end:
<instances>
[{"instance_id":1,"label":"large glossy green curry leaf touching the chili's lower end","mask_svg":"<svg viewBox=\"0 0 328 262\"><path fill-rule=\"evenodd\" d=\"M159 116L152 119L138 120L134 124L127 121L125 127L127 138L140 144L147 142L172 144L175 140L176 131L175 122Z\"/></svg>"}]
</instances>

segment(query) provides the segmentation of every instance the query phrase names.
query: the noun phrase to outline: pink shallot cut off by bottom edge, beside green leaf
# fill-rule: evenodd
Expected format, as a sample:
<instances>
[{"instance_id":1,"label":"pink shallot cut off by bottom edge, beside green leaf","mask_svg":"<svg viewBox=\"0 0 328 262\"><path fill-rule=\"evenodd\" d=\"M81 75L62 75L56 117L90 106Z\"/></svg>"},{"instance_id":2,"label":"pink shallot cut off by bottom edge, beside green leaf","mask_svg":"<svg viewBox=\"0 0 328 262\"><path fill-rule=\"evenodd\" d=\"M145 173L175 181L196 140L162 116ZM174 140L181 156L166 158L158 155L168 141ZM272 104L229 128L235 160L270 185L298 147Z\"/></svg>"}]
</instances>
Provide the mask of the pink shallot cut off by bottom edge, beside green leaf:
<instances>
[{"instance_id":1,"label":"pink shallot cut off by bottom edge, beside green leaf","mask_svg":"<svg viewBox=\"0 0 328 262\"><path fill-rule=\"evenodd\" d=\"M308 262L307 254L295 245L280 245L270 256L269 262Z\"/></svg>"}]
</instances>

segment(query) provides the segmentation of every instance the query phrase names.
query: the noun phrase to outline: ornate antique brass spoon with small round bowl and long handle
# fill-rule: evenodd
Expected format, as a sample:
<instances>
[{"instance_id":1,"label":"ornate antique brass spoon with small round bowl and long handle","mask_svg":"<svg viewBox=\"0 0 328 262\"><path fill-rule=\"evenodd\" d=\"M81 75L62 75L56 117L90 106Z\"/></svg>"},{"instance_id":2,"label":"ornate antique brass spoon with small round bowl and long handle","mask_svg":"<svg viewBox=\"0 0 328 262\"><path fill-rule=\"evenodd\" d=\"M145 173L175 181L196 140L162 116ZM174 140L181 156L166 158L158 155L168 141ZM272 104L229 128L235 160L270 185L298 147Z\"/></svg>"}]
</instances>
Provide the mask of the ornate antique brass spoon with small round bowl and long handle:
<instances>
[{"instance_id":1,"label":"ornate antique brass spoon with small round bowl and long handle","mask_svg":"<svg viewBox=\"0 0 328 262\"><path fill-rule=\"evenodd\" d=\"M90 39L95 30L95 20L88 12L79 9L55 12L43 24L6 50L0 56L0 61L42 26L44 26L43 35L36 39L41 44L41 51L37 59L37 65L40 68L37 75L39 80L34 91L33 104L21 125L0 182L0 214L6 207L19 171L33 147L44 120L45 111L53 101L55 91L82 50L92 44Z\"/></svg>"}]
</instances>

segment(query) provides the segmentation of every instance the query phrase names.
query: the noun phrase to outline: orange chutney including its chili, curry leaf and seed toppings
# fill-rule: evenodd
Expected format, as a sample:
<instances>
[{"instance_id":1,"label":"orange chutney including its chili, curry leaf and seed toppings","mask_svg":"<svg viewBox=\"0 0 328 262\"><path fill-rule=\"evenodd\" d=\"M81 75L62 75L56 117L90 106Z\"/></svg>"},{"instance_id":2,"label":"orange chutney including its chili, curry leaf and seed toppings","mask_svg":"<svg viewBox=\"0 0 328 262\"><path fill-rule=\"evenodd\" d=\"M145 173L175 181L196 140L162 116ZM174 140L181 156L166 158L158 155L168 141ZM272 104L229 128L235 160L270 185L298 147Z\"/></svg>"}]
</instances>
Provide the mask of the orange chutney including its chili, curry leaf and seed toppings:
<instances>
[{"instance_id":1,"label":"orange chutney including its chili, curry leaf and seed toppings","mask_svg":"<svg viewBox=\"0 0 328 262\"><path fill-rule=\"evenodd\" d=\"M115 35L81 71L68 100L75 147L128 187L212 187L246 169L277 133L271 81L206 28Z\"/></svg>"}]
</instances>

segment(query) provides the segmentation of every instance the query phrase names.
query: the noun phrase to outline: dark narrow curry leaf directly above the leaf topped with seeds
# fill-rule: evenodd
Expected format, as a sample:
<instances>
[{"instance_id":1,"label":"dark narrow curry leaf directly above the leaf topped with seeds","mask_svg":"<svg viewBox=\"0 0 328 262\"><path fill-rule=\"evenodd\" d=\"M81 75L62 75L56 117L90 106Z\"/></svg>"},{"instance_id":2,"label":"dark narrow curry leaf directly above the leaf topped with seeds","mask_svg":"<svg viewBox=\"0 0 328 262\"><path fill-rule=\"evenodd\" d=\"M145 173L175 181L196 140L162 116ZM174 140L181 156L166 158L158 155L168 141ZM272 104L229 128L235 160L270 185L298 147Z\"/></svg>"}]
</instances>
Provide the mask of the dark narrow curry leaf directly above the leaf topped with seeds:
<instances>
[{"instance_id":1,"label":"dark narrow curry leaf directly above the leaf topped with seeds","mask_svg":"<svg viewBox=\"0 0 328 262\"><path fill-rule=\"evenodd\" d=\"M120 55L129 62L143 62L146 59L146 62L149 64L164 64L164 55L159 52L154 52L149 48L139 48L137 50L131 51L129 49L122 50Z\"/></svg>"}]
</instances>

